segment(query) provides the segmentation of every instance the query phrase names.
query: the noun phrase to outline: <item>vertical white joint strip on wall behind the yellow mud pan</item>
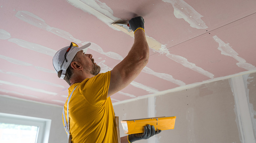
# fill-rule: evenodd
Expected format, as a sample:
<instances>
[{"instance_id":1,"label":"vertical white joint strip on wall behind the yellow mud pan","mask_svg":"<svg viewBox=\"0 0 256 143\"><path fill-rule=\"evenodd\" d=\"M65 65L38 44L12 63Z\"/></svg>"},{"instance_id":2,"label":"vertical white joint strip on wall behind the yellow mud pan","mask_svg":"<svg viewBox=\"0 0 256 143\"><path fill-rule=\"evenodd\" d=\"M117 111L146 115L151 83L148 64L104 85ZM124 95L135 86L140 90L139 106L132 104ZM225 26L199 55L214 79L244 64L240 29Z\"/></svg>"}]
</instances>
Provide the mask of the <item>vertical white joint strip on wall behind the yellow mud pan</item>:
<instances>
[{"instance_id":1,"label":"vertical white joint strip on wall behind the yellow mud pan","mask_svg":"<svg viewBox=\"0 0 256 143\"><path fill-rule=\"evenodd\" d=\"M155 97L152 96L148 98L148 118L156 117L155 102L156 102ZM152 136L151 138L148 139L148 143L155 143L155 140L156 140L156 136Z\"/></svg>"}]
</instances>

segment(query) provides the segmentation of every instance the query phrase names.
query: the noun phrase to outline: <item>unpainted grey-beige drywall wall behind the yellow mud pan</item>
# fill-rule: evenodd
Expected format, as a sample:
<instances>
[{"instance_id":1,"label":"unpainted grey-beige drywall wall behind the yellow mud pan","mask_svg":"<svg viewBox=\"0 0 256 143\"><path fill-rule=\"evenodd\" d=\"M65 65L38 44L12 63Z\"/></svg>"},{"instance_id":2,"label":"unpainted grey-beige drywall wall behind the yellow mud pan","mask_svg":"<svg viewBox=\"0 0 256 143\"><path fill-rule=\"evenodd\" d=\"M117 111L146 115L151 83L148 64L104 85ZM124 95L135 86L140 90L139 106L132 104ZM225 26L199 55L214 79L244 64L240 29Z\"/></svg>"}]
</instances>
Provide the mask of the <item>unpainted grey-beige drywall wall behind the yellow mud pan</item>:
<instances>
[{"instance_id":1,"label":"unpainted grey-beige drywall wall behind the yellow mud pan","mask_svg":"<svg viewBox=\"0 0 256 143\"><path fill-rule=\"evenodd\" d=\"M235 79L242 81L237 82ZM174 130L162 131L153 139L141 140L140 143L254 143L255 80L256 73L239 75L163 95L115 104L114 110L120 120L177 117ZM237 89L234 89L237 85L242 85L243 88L239 88L239 92L248 93L244 94L247 96L238 95ZM242 107L247 104L243 101L248 101L248 108ZM248 112L249 116L241 112ZM253 126L248 126L250 121ZM125 136L121 125L119 128L120 136Z\"/></svg>"}]
</instances>

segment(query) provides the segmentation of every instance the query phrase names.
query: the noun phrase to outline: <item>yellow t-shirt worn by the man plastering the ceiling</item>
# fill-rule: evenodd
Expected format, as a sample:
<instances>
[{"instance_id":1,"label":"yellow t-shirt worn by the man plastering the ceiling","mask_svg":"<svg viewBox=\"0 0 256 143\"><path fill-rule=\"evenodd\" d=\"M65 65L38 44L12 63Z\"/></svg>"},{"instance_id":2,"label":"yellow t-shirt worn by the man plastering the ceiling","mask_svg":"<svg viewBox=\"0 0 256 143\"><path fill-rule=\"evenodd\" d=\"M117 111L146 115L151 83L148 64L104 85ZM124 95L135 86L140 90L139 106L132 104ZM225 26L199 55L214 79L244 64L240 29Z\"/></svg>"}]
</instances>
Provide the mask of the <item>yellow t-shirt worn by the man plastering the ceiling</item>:
<instances>
[{"instance_id":1,"label":"yellow t-shirt worn by the man plastering the ceiling","mask_svg":"<svg viewBox=\"0 0 256 143\"><path fill-rule=\"evenodd\" d=\"M107 98L110 71L69 87L70 134L73 143L117 143L115 114ZM67 101L64 105L67 119Z\"/></svg>"}]
</instances>

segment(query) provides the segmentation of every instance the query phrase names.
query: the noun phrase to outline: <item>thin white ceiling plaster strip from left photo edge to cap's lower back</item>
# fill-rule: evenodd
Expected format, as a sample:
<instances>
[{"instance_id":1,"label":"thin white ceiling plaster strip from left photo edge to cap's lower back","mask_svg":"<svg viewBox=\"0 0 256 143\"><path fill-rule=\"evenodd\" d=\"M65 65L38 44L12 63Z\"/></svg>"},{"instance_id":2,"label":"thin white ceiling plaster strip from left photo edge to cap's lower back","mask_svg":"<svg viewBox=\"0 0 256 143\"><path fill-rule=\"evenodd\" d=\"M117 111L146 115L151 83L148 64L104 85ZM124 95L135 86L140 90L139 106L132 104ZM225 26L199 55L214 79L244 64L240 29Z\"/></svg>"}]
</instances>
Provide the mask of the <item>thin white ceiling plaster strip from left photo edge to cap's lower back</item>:
<instances>
[{"instance_id":1,"label":"thin white ceiling plaster strip from left photo edge to cap's lower back","mask_svg":"<svg viewBox=\"0 0 256 143\"><path fill-rule=\"evenodd\" d=\"M0 58L5 59L5 60L7 60L8 62L13 63L13 64L16 64L16 65L21 65L21 66L33 66L33 65L30 64L30 63L23 62L23 61L20 61L20 60L17 60L17 59L8 57L8 56L0 55ZM45 68L42 68L42 67L37 67L37 66L33 66L33 67L36 68L36 69L39 70L39 71L49 72L49 73L56 73L56 71L49 70L49 69L45 69Z\"/></svg>"}]
</instances>

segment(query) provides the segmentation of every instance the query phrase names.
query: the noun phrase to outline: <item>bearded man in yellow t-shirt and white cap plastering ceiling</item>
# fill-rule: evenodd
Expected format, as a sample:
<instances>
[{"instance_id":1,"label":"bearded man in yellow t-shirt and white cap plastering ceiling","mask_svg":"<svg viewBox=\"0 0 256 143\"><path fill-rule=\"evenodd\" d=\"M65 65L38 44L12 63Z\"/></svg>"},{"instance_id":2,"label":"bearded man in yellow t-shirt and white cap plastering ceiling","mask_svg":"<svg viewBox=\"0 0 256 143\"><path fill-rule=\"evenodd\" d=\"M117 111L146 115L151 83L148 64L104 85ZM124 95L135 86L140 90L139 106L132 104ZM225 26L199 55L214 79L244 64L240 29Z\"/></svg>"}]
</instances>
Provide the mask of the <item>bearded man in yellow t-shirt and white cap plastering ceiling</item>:
<instances>
[{"instance_id":1,"label":"bearded man in yellow t-shirt and white cap plastering ceiling","mask_svg":"<svg viewBox=\"0 0 256 143\"><path fill-rule=\"evenodd\" d=\"M69 99L63 109L63 124L73 143L117 143L117 128L110 96L128 86L146 66L149 48L144 33L144 19L132 18L134 45L128 55L113 70L100 73L91 54L85 54L75 43L53 56L53 66L60 78L70 85ZM72 97L72 98L71 98ZM154 126L144 127L144 133L121 137L121 143L147 139L155 134Z\"/></svg>"}]
</instances>

